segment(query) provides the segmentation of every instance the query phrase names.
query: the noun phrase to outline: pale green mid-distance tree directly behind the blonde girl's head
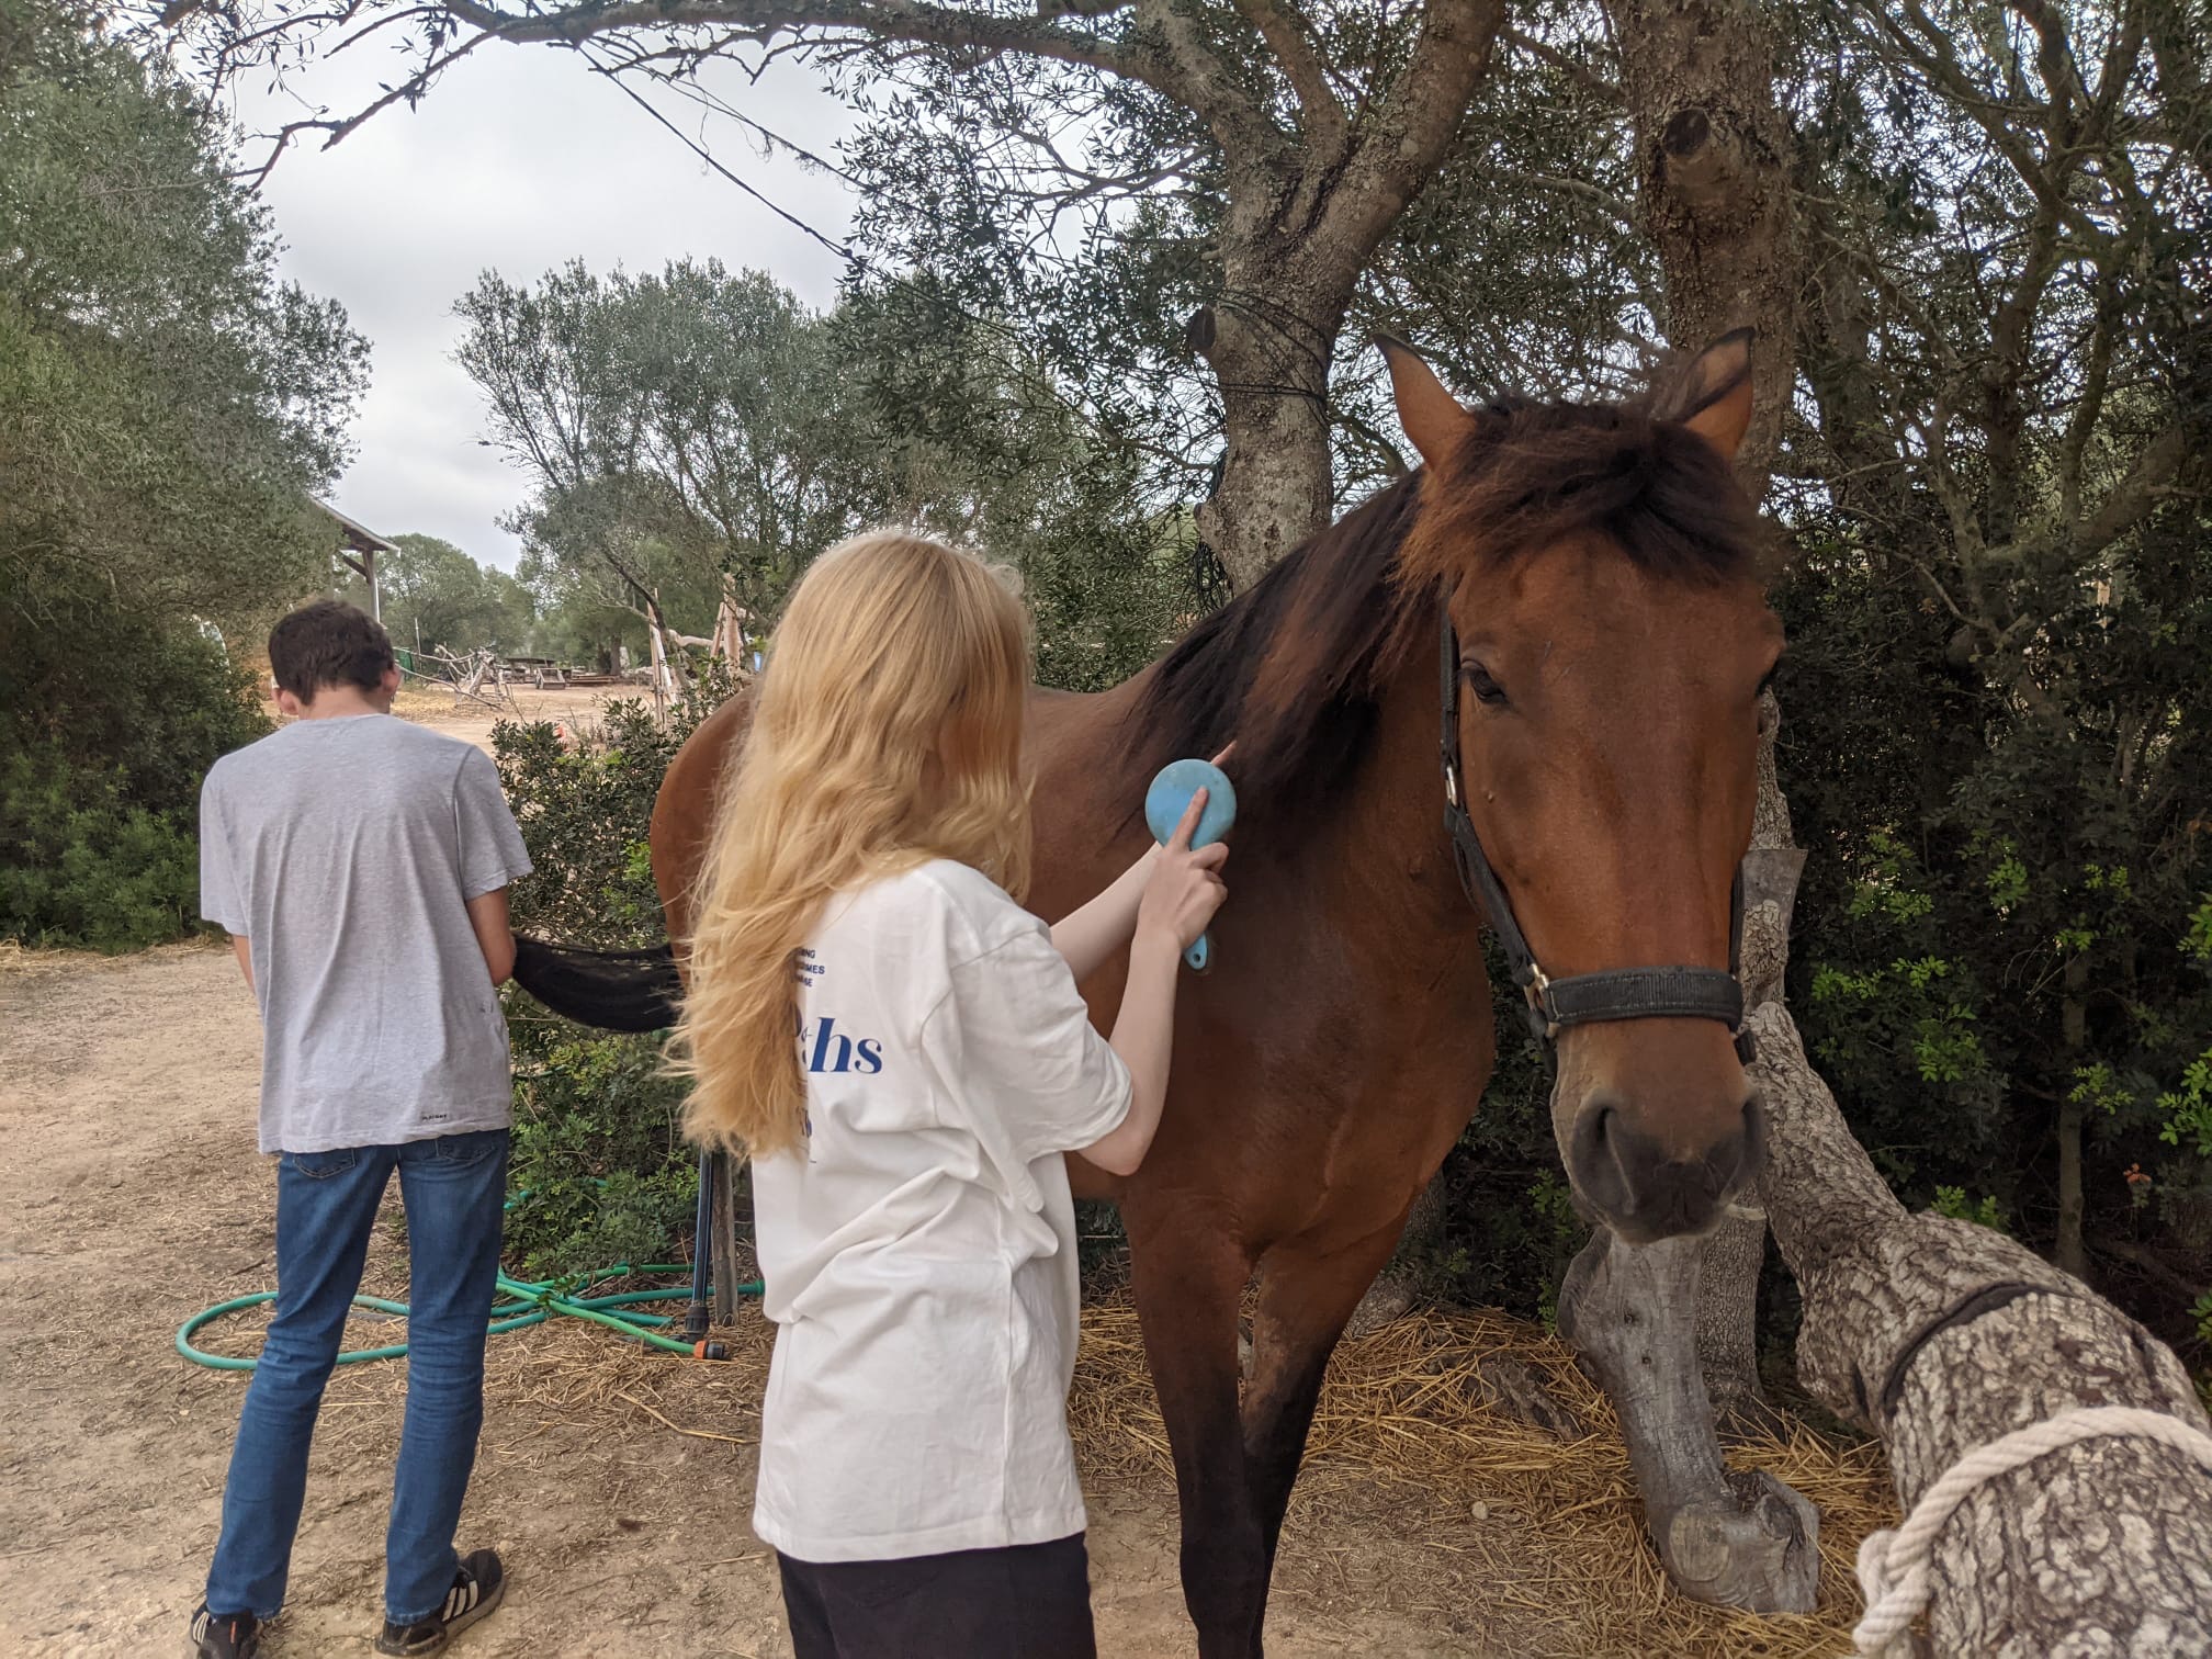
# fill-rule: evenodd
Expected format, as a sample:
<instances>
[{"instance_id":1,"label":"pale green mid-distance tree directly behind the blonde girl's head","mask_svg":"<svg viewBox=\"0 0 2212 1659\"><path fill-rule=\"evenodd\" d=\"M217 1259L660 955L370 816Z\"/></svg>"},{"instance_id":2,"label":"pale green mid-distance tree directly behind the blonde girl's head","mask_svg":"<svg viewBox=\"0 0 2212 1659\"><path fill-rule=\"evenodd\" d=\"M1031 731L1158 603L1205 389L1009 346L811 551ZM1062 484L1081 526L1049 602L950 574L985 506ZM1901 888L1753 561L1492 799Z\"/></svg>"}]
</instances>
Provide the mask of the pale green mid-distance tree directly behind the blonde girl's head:
<instances>
[{"instance_id":1,"label":"pale green mid-distance tree directly behind the blonde girl's head","mask_svg":"<svg viewBox=\"0 0 2212 1659\"><path fill-rule=\"evenodd\" d=\"M1113 684L1199 606L1190 515L1148 509L1141 453L927 285L814 316L761 272L571 265L484 276L460 312L460 361L533 480L513 524L549 626L641 619L650 595L703 635L723 580L770 617L814 553L876 522L1022 571L1053 684Z\"/></svg>"}]
</instances>

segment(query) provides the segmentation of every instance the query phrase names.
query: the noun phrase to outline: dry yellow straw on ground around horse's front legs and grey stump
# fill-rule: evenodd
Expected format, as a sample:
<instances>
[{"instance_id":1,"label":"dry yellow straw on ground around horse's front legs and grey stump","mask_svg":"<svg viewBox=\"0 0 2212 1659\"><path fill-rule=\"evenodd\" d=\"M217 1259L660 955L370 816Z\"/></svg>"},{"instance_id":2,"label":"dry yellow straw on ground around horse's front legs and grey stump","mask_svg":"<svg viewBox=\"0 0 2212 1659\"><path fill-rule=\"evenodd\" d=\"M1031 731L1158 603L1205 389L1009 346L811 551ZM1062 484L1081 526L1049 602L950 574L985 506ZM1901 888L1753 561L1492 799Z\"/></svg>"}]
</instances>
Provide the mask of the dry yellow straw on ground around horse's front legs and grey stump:
<instances>
[{"instance_id":1,"label":"dry yellow straw on ground around horse's front legs and grey stump","mask_svg":"<svg viewBox=\"0 0 2212 1659\"><path fill-rule=\"evenodd\" d=\"M1513 1360L1588 1425L1555 1440L1489 1400L1484 1360ZM1068 1400L1086 1484L1172 1478L1168 1438L1126 1301L1084 1310ZM1628 1451L1604 1394L1566 1347L1495 1312L1416 1312L1347 1338L1329 1365L1276 1564L1283 1590L1318 1588L1338 1540L1385 1528L1389 1571L1365 1564L1367 1606L1504 1621L1515 1652L1845 1655L1860 1597L1858 1542L1896 1524L1880 1447L1809 1429L1730 1451L1820 1509L1820 1601L1805 1617L1754 1617L1677 1595L1644 1537ZM1458 1626L1453 1626L1458 1628Z\"/></svg>"}]
</instances>

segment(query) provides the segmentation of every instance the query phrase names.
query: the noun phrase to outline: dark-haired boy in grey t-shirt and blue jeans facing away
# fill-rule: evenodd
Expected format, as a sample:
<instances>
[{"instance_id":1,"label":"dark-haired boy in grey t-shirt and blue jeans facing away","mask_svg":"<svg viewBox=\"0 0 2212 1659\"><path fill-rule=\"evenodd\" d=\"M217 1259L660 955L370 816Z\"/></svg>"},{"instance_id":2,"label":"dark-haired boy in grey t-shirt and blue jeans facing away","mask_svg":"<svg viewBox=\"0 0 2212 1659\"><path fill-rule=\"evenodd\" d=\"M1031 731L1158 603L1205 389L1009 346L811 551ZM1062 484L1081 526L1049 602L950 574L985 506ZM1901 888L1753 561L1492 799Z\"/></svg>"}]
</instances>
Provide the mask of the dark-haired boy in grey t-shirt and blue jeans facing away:
<instances>
[{"instance_id":1,"label":"dark-haired boy in grey t-shirt and blue jeans facing away","mask_svg":"<svg viewBox=\"0 0 2212 1659\"><path fill-rule=\"evenodd\" d=\"M491 759L392 717L398 666L349 604L270 635L296 719L226 754L199 803L199 907L261 1004L276 1152L276 1316L246 1391L195 1659L248 1659L283 1604L323 1383L394 1170L407 1203L407 1418L378 1652L436 1652L507 1593L453 1551L484 1413L509 1071L507 885L531 872Z\"/></svg>"}]
</instances>

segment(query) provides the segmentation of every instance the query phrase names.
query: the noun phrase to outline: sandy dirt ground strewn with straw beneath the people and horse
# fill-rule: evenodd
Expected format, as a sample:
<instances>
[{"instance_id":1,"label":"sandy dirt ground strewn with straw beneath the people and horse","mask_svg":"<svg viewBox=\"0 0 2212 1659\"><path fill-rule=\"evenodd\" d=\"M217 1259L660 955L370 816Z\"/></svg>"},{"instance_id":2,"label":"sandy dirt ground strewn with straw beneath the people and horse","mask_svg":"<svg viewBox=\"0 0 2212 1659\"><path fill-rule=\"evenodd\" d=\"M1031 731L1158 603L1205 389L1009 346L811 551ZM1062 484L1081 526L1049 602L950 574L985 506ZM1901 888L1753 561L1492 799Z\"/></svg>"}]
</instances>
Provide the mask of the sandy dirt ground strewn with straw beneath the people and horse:
<instances>
[{"instance_id":1,"label":"sandy dirt ground strewn with straw beneath the people and horse","mask_svg":"<svg viewBox=\"0 0 2212 1659\"><path fill-rule=\"evenodd\" d=\"M173 1334L195 1310L272 1283L252 1002L219 947L9 951L0 1033L0 1652L173 1652L215 1542L243 1391L241 1374L184 1363ZM380 1237L369 1287L405 1296L403 1263ZM1606 1425L1582 1442L1590 1453L1475 1407L1440 1416L1436 1378L1391 1358L1431 1336L1400 1327L1367 1338L1367 1376L1385 1394L1358 1394L1363 1345L1347 1347L1354 1391L1332 1385L1345 1405L1316 1427L1276 1573L1276 1659L1845 1650L1847 1528L1823 1537L1832 1584L1818 1617L1688 1608L1657 1577ZM1502 1327L1460 1329L1522 1340ZM252 1352L252 1318L201 1340ZM374 1321L349 1336L387 1340L396 1332ZM1102 1652L1188 1655L1175 1491L1133 1340L1128 1310L1086 1314L1073 1411ZM717 1367L573 1323L493 1338L460 1542L498 1546L513 1593L465 1652L790 1652L772 1559L748 1528L761 1321L734 1343L739 1363ZM1411 1396L1394 1367L1416 1374ZM369 1652L403 1385L396 1363L332 1380L270 1659ZM1601 1411L1593 1400L1582 1409ZM1453 1447L1489 1462L1453 1462ZM1823 1509L1880 1489L1865 1458L1816 1449L1807 1467L1783 1473Z\"/></svg>"}]
</instances>

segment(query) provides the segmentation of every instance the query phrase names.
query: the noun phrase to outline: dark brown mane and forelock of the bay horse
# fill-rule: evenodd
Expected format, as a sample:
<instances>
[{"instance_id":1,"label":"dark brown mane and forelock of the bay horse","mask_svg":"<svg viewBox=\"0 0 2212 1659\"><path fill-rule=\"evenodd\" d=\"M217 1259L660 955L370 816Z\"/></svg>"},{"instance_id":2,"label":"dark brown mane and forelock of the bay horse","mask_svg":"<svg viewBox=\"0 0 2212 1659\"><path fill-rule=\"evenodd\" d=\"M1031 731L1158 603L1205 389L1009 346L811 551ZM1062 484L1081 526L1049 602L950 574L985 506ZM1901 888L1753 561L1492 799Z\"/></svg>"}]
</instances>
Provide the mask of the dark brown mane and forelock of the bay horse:
<instances>
[{"instance_id":1,"label":"dark brown mane and forelock of the bay horse","mask_svg":"<svg viewBox=\"0 0 2212 1659\"><path fill-rule=\"evenodd\" d=\"M1759 509L1681 422L1646 405L1471 409L1440 467L1376 491L1183 635L1130 710L1126 763L1150 776L1234 739L1243 838L1274 803L1310 823L1349 792L1409 653L1436 648L1442 593L1568 538L1679 582L1770 568Z\"/></svg>"}]
</instances>

